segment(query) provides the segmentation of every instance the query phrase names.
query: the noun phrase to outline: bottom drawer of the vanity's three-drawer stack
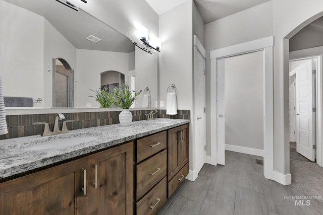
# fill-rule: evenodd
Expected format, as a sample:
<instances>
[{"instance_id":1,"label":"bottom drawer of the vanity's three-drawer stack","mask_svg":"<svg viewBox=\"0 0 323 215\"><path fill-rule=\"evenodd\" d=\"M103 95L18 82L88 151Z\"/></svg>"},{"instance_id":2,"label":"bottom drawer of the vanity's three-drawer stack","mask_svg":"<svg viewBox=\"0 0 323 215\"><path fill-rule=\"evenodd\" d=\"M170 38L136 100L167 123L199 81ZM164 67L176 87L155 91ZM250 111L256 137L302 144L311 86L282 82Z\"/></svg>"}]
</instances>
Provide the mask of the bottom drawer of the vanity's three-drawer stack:
<instances>
[{"instance_id":1,"label":"bottom drawer of the vanity's three-drawer stack","mask_svg":"<svg viewBox=\"0 0 323 215\"><path fill-rule=\"evenodd\" d=\"M166 177L136 203L137 215L157 214L166 203Z\"/></svg>"}]
</instances>

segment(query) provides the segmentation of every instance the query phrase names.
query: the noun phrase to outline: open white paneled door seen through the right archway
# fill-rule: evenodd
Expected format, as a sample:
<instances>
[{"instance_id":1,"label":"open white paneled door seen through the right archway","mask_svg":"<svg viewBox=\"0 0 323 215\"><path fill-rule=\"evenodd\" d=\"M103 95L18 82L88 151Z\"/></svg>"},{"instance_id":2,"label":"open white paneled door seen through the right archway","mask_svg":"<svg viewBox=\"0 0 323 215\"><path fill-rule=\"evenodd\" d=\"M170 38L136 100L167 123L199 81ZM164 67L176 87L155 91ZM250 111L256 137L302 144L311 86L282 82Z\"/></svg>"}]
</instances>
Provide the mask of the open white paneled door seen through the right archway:
<instances>
[{"instance_id":1,"label":"open white paneled door seen through the right archway","mask_svg":"<svg viewBox=\"0 0 323 215\"><path fill-rule=\"evenodd\" d=\"M315 100L312 87L312 64L309 60L296 68L296 151L315 161Z\"/></svg>"}]
</instances>

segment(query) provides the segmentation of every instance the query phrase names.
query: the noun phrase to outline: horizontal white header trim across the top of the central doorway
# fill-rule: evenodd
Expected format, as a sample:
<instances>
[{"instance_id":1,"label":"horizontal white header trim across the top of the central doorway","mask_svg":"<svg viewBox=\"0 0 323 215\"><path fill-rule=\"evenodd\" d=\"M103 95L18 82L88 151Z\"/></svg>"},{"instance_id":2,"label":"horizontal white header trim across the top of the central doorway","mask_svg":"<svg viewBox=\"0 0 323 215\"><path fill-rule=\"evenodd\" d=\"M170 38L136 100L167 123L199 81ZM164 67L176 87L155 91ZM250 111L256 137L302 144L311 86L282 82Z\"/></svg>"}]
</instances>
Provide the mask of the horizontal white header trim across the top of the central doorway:
<instances>
[{"instance_id":1,"label":"horizontal white header trim across the top of the central doorway","mask_svg":"<svg viewBox=\"0 0 323 215\"><path fill-rule=\"evenodd\" d=\"M274 46L274 36L265 37L210 51L210 59L248 53L272 46Z\"/></svg>"}]
</instances>

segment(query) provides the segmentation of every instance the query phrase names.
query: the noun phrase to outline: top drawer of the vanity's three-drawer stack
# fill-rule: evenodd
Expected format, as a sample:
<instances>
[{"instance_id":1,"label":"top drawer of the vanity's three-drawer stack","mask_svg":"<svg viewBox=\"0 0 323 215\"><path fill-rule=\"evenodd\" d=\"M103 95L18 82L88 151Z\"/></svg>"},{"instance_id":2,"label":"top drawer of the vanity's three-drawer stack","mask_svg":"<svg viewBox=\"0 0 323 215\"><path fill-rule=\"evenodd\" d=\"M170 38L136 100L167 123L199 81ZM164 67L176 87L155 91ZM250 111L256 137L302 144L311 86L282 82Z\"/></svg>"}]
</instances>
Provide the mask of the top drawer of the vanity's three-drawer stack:
<instances>
[{"instance_id":1,"label":"top drawer of the vanity's three-drawer stack","mask_svg":"<svg viewBox=\"0 0 323 215\"><path fill-rule=\"evenodd\" d=\"M137 162L165 149L167 132L163 131L137 140Z\"/></svg>"}]
</instances>

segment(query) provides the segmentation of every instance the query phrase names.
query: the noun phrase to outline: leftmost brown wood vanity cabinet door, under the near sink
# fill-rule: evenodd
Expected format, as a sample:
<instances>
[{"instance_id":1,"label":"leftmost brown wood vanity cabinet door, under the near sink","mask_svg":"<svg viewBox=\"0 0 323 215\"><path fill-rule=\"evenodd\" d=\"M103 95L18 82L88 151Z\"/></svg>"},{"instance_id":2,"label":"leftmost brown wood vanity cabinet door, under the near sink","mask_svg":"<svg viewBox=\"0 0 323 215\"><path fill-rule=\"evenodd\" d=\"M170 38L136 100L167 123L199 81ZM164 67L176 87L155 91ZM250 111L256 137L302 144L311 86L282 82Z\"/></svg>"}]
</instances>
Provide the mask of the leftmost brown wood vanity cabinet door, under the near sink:
<instances>
[{"instance_id":1,"label":"leftmost brown wood vanity cabinet door, under the near sink","mask_svg":"<svg viewBox=\"0 0 323 215\"><path fill-rule=\"evenodd\" d=\"M87 166L82 158L1 183L0 214L87 214Z\"/></svg>"}]
</instances>

